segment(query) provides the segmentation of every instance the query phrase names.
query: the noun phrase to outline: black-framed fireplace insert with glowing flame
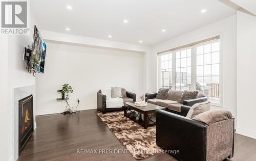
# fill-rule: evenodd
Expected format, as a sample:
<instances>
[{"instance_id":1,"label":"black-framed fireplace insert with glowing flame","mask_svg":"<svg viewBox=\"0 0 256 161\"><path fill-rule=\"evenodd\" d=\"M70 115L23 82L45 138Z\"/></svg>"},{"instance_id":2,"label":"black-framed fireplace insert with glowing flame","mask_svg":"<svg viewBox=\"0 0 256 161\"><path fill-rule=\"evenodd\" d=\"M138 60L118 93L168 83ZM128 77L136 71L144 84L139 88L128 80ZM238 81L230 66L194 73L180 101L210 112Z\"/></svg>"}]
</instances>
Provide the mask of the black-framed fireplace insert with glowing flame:
<instances>
[{"instance_id":1,"label":"black-framed fireplace insert with glowing flame","mask_svg":"<svg viewBox=\"0 0 256 161\"><path fill-rule=\"evenodd\" d=\"M33 95L18 101L18 154L34 131Z\"/></svg>"}]
</instances>

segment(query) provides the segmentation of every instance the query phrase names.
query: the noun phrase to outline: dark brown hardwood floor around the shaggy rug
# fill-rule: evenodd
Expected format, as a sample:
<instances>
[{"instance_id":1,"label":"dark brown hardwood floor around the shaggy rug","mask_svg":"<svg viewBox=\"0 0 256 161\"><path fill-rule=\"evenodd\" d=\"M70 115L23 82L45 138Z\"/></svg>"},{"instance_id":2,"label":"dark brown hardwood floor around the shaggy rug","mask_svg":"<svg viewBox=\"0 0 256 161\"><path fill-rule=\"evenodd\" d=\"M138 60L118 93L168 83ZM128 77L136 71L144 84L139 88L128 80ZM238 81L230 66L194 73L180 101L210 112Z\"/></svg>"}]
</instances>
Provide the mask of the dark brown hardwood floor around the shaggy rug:
<instances>
[{"instance_id":1,"label":"dark brown hardwood floor around the shaggy rug","mask_svg":"<svg viewBox=\"0 0 256 161\"><path fill-rule=\"evenodd\" d=\"M136 160L130 153L79 154L77 149L125 149L113 133L96 116L95 110L71 115L36 117L37 128L18 160ZM156 154L143 159L176 160L168 154ZM231 160L256 160L256 140L235 136L234 157Z\"/></svg>"}]
</instances>

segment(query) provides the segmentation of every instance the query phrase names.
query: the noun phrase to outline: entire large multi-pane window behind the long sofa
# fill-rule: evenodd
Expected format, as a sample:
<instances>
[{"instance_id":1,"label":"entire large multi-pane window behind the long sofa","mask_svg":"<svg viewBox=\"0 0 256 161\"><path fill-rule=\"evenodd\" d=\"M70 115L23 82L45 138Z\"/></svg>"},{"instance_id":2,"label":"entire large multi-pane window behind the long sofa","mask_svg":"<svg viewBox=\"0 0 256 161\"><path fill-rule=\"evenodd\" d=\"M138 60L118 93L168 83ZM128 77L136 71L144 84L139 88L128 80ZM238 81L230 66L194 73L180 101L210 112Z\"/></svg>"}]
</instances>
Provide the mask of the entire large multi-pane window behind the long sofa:
<instances>
[{"instance_id":1,"label":"entire large multi-pane window behind the long sofa","mask_svg":"<svg viewBox=\"0 0 256 161\"><path fill-rule=\"evenodd\" d=\"M158 56L159 88L198 90L220 103L220 39L189 44Z\"/></svg>"}]
</instances>

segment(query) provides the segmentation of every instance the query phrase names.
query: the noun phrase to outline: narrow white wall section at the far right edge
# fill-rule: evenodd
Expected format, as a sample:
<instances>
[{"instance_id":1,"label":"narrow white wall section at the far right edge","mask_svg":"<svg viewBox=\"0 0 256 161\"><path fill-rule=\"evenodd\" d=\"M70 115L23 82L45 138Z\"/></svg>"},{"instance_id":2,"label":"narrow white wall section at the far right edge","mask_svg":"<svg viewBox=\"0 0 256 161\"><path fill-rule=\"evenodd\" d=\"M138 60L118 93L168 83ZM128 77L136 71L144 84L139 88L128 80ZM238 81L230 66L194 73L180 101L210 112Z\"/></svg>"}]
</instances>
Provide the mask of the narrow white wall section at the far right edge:
<instances>
[{"instance_id":1,"label":"narrow white wall section at the far right edge","mask_svg":"<svg viewBox=\"0 0 256 161\"><path fill-rule=\"evenodd\" d=\"M237 133L256 139L256 17L237 12Z\"/></svg>"}]
</instances>

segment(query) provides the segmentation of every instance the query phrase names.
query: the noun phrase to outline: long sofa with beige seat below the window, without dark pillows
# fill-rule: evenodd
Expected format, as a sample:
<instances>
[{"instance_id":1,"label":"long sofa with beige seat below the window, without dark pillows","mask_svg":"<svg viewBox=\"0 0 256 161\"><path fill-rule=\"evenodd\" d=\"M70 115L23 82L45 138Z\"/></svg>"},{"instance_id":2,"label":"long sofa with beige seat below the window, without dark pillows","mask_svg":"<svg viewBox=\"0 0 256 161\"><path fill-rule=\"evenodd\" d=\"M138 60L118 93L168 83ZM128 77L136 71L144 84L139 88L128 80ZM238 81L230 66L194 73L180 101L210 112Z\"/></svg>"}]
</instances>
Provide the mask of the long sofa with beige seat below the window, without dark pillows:
<instances>
[{"instance_id":1,"label":"long sofa with beige seat below the window, without dark pillows","mask_svg":"<svg viewBox=\"0 0 256 161\"><path fill-rule=\"evenodd\" d=\"M169 90L168 97L166 99L157 99L157 93L147 93L145 95L146 101L148 103L164 106L165 108L167 108L167 111L182 116L186 116L190 107L193 106L195 103L208 100L207 97L205 97L202 93L199 93L197 98L184 100L183 103L181 103L182 94L183 91Z\"/></svg>"}]
</instances>

